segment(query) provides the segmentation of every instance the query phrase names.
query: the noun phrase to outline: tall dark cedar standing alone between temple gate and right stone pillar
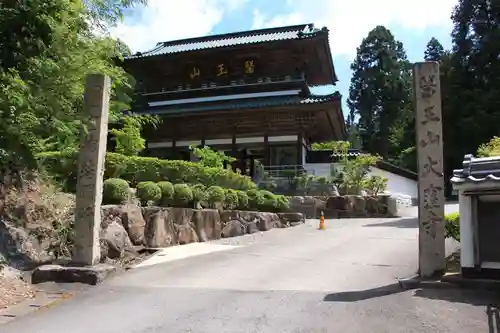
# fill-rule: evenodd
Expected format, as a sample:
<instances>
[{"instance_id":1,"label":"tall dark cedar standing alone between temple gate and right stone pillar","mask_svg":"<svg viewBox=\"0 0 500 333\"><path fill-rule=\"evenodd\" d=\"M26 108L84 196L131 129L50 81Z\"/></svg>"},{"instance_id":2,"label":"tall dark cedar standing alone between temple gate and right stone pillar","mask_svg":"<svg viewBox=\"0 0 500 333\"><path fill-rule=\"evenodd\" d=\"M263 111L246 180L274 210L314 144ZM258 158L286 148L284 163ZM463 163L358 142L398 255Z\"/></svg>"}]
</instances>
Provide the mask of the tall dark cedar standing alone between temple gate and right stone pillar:
<instances>
[{"instance_id":1,"label":"tall dark cedar standing alone between temple gate and right stone pillar","mask_svg":"<svg viewBox=\"0 0 500 333\"><path fill-rule=\"evenodd\" d=\"M358 47L351 69L349 119L359 117L365 151L390 158L400 150L402 129L410 116L410 68L403 44L377 26Z\"/></svg>"}]
</instances>

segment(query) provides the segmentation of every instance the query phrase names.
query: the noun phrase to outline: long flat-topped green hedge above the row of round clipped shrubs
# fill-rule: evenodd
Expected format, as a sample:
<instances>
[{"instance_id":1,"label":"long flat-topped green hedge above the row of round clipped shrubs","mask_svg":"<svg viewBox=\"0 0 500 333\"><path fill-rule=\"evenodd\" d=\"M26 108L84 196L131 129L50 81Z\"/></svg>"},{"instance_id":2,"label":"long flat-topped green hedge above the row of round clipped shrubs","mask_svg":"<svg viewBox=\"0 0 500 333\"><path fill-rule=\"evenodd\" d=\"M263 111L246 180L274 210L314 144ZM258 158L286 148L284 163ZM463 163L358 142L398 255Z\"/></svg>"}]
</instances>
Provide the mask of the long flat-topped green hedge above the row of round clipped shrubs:
<instances>
[{"instance_id":1,"label":"long flat-topped green hedge above the row of round clipped shrubs","mask_svg":"<svg viewBox=\"0 0 500 333\"><path fill-rule=\"evenodd\" d=\"M77 152L44 152L40 166L65 188L74 192L78 170ZM236 190L256 188L250 177L222 168L208 168L197 162L162 160L154 157L125 156L107 153L104 178L122 178L135 187L144 181L168 180L174 184L203 184Z\"/></svg>"}]
</instances>

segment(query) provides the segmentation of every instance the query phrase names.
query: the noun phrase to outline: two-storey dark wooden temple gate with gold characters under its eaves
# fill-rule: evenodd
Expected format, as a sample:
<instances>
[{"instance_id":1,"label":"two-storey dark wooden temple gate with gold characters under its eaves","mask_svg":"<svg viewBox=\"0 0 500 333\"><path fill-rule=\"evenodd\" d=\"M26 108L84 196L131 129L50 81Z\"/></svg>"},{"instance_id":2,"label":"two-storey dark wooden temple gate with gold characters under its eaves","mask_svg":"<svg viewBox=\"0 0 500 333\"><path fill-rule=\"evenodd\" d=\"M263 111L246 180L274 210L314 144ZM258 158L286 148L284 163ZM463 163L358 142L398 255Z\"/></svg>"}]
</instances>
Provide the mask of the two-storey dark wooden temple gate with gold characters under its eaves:
<instances>
[{"instance_id":1,"label":"two-storey dark wooden temple gate with gold characters under its eaves","mask_svg":"<svg viewBox=\"0 0 500 333\"><path fill-rule=\"evenodd\" d=\"M162 118L145 133L151 156L190 159L207 145L252 174L303 165L313 142L345 140L341 95L315 95L337 82L328 29L313 24L158 43L127 57L137 81L136 114Z\"/></svg>"}]
</instances>

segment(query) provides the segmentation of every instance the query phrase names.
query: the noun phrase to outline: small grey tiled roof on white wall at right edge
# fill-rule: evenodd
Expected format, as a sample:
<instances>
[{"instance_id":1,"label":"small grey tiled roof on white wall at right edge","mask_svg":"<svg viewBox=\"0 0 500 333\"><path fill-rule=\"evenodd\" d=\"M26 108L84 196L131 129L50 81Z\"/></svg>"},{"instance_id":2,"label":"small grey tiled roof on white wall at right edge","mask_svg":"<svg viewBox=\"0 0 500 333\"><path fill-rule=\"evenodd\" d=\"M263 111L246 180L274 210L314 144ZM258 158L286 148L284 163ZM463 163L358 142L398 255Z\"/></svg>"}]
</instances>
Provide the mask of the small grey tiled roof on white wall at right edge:
<instances>
[{"instance_id":1,"label":"small grey tiled roof on white wall at right edge","mask_svg":"<svg viewBox=\"0 0 500 333\"><path fill-rule=\"evenodd\" d=\"M453 170L454 184L500 181L500 156L475 158L465 155L463 169Z\"/></svg>"}]
</instances>

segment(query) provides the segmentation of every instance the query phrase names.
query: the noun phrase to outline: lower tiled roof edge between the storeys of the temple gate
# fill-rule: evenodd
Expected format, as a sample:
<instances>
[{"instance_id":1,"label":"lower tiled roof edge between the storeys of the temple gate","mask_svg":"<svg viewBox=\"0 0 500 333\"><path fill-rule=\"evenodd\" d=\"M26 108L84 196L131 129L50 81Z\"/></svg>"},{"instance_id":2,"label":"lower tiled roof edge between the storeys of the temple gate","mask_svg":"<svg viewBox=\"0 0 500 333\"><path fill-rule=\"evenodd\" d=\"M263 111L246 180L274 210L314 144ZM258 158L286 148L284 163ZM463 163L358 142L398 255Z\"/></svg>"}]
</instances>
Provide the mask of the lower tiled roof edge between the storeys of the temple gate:
<instances>
[{"instance_id":1,"label":"lower tiled roof edge between the storeys of the temple gate","mask_svg":"<svg viewBox=\"0 0 500 333\"><path fill-rule=\"evenodd\" d=\"M166 107L150 108L146 111L148 114L176 114L184 112L202 112L216 110L233 109L258 109L272 106L299 105L299 104L321 104L335 100L340 100L341 95L336 92L330 95L309 95L301 97L300 95L284 95L260 98L234 99L218 101L217 103L193 103L193 104L174 104Z\"/></svg>"}]
</instances>

